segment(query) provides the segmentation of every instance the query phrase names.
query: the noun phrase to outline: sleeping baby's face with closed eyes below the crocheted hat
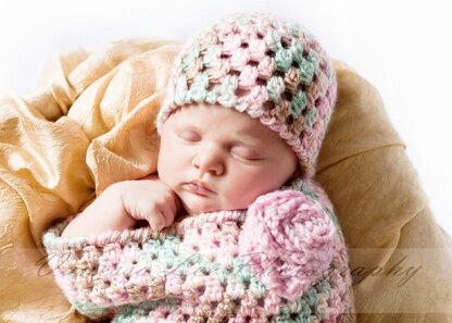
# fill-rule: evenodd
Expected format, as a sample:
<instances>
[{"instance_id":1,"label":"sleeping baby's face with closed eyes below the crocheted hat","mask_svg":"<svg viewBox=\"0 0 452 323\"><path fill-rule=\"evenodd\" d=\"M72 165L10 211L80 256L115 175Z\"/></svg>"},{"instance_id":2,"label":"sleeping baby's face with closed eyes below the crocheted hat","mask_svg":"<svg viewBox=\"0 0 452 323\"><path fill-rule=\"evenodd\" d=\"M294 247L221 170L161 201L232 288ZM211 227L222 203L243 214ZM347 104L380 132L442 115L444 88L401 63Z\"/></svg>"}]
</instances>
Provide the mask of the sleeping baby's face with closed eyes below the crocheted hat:
<instances>
[{"instance_id":1,"label":"sleeping baby's face with closed eyes below the crocheted hat","mask_svg":"<svg viewBox=\"0 0 452 323\"><path fill-rule=\"evenodd\" d=\"M286 141L247 113L210 104L177 109L162 127L160 181L189 214L247 209L297 169ZM187 185L203 182L211 191Z\"/></svg>"}]
</instances>

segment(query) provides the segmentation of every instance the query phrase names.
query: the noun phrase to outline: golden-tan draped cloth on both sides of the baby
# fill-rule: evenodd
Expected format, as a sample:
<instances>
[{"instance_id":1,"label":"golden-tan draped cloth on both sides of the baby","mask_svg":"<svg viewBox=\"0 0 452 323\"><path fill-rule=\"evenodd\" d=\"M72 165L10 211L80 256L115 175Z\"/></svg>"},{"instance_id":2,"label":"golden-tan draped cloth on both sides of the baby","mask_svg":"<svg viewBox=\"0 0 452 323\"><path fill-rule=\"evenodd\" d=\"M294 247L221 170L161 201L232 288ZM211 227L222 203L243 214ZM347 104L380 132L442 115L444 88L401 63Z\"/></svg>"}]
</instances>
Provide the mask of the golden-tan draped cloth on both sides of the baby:
<instances>
[{"instance_id":1,"label":"golden-tan draped cloth on both sides of the baby","mask_svg":"<svg viewBox=\"0 0 452 323\"><path fill-rule=\"evenodd\" d=\"M127 39L68 51L36 91L0 97L0 322L87 322L56 286L42 233L112 183L156 171L153 122L179 49ZM334 65L338 102L315 179L346 236L357 322L452 322L452 239L378 90Z\"/></svg>"}]
</instances>

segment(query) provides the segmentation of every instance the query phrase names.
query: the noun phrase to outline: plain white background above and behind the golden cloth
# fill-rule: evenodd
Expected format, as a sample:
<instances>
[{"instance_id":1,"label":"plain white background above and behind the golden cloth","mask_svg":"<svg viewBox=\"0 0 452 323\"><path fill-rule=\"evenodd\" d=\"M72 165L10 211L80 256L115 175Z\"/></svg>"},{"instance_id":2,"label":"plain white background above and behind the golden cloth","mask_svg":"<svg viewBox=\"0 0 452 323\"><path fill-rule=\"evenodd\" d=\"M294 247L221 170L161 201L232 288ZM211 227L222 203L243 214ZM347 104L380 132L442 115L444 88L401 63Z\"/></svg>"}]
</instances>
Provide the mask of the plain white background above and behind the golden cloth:
<instances>
[{"instance_id":1,"label":"plain white background above and behind the golden cloth","mask_svg":"<svg viewBox=\"0 0 452 323\"><path fill-rule=\"evenodd\" d=\"M0 0L0 92L36 89L43 62L125 37L178 40L238 11L298 20L380 92L437 221L452 235L449 1Z\"/></svg>"}]
</instances>

